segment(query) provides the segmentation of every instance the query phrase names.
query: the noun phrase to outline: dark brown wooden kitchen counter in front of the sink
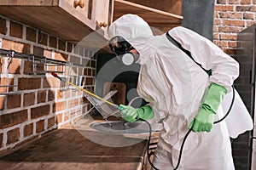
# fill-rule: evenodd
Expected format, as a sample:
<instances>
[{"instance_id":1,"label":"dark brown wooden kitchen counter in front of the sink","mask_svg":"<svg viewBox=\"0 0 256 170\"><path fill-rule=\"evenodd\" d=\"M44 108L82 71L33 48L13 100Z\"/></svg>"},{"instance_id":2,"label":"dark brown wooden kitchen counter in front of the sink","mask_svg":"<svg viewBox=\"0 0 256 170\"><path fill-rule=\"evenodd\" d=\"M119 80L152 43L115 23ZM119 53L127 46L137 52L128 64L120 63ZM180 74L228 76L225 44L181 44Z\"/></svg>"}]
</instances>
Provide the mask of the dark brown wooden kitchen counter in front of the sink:
<instances>
[{"instance_id":1,"label":"dark brown wooden kitchen counter in front of the sink","mask_svg":"<svg viewBox=\"0 0 256 170\"><path fill-rule=\"evenodd\" d=\"M2 156L0 169L142 169L145 134L101 133L90 129L87 121L44 134Z\"/></svg>"}]
</instances>

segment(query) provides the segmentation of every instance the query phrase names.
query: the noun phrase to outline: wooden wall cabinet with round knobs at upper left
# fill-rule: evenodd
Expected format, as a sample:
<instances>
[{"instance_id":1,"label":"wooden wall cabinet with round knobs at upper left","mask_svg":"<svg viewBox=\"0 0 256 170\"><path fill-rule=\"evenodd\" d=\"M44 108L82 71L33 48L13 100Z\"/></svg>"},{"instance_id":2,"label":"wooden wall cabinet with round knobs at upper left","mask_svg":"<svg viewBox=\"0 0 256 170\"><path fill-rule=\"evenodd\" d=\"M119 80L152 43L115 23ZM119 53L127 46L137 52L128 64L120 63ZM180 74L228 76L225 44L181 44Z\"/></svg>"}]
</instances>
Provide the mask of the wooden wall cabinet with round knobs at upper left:
<instances>
[{"instance_id":1,"label":"wooden wall cabinet with round knobs at upper left","mask_svg":"<svg viewBox=\"0 0 256 170\"><path fill-rule=\"evenodd\" d=\"M0 14L69 42L108 26L109 0L1 0Z\"/></svg>"}]
</instances>

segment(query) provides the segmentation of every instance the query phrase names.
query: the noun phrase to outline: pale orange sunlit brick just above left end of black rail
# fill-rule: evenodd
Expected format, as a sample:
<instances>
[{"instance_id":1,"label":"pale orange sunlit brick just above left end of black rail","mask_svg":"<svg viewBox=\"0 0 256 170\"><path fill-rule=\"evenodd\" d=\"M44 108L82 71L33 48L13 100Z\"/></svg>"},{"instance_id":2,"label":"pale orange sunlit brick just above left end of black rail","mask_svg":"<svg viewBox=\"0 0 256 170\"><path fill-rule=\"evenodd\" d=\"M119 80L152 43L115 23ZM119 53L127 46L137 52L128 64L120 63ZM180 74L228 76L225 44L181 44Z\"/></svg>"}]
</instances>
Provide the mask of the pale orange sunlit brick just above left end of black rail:
<instances>
[{"instance_id":1,"label":"pale orange sunlit brick just above left end of black rail","mask_svg":"<svg viewBox=\"0 0 256 170\"><path fill-rule=\"evenodd\" d=\"M2 48L12 49L18 53L30 54L29 44L22 43L22 42L13 42L10 40L3 39Z\"/></svg>"}]
</instances>

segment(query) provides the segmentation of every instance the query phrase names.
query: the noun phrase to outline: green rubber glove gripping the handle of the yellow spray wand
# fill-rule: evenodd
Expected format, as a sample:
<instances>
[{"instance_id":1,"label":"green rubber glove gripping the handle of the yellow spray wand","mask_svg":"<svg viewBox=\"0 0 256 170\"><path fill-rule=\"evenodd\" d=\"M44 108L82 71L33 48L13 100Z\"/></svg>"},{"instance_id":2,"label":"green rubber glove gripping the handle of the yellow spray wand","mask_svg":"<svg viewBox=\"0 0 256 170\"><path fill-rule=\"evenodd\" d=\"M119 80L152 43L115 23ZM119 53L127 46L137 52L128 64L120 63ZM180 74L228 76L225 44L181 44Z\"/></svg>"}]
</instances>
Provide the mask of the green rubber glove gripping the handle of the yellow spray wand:
<instances>
[{"instance_id":1,"label":"green rubber glove gripping the handle of the yellow spray wand","mask_svg":"<svg viewBox=\"0 0 256 170\"><path fill-rule=\"evenodd\" d=\"M140 108L134 108L130 105L119 105L122 108L121 116L127 122L135 122L138 118L148 120L154 117L154 111L149 105Z\"/></svg>"}]
</instances>

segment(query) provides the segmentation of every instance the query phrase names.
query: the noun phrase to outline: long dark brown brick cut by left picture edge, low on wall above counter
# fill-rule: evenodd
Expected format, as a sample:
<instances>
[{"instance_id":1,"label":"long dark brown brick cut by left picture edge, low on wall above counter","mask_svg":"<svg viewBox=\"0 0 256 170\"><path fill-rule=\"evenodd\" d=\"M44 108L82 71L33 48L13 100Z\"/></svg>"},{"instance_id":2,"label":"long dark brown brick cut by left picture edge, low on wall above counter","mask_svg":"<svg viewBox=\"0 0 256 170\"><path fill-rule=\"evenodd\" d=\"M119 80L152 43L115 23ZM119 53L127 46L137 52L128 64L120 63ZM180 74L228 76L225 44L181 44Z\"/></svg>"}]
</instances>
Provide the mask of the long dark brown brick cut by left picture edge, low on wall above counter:
<instances>
[{"instance_id":1,"label":"long dark brown brick cut by left picture edge, low on wall above counter","mask_svg":"<svg viewBox=\"0 0 256 170\"><path fill-rule=\"evenodd\" d=\"M0 128L12 127L27 121L27 110L16 111L0 116Z\"/></svg>"}]
</instances>

